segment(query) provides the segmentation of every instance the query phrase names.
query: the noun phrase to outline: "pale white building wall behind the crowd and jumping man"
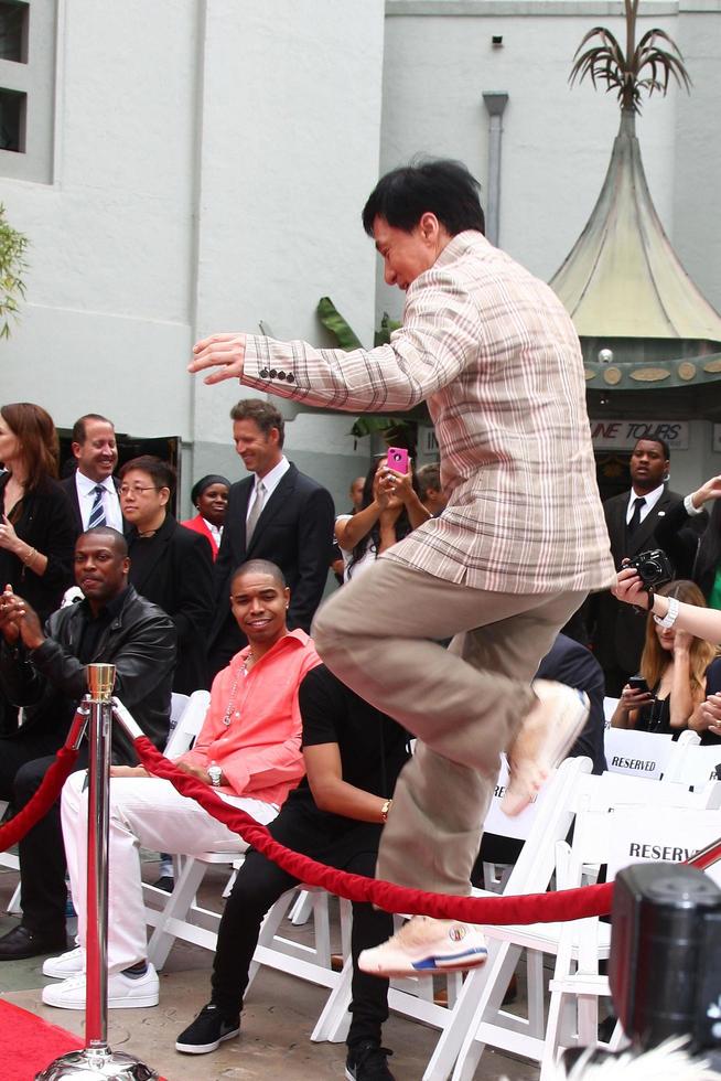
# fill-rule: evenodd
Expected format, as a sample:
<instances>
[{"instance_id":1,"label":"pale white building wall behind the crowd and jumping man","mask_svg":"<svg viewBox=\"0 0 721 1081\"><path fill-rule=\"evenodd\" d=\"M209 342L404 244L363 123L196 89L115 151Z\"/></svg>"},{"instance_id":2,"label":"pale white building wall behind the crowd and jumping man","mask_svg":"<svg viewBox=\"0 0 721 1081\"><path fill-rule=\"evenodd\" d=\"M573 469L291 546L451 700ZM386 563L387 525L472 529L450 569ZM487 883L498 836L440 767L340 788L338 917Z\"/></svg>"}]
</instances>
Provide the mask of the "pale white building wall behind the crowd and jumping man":
<instances>
[{"instance_id":1,"label":"pale white building wall behind the crowd and jumping man","mask_svg":"<svg viewBox=\"0 0 721 1081\"><path fill-rule=\"evenodd\" d=\"M52 182L3 176L0 160L0 200L32 245L28 302L0 342L0 398L41 402L62 427L99 410L137 436L179 435L185 491L209 469L241 473L227 414L244 392L185 374L197 336L262 321L323 343L325 295L368 343L384 310L400 314L359 224L379 172L450 154L485 188L482 95L508 93L499 239L549 278L591 212L617 127L612 95L567 82L587 30L622 33L617 0L31 4L56 25ZM668 30L693 78L691 97L672 89L644 106L652 192L721 308L721 0L649 0L642 12L639 30ZM354 450L351 424L288 426L289 454L340 505L368 452Z\"/></svg>"}]
</instances>

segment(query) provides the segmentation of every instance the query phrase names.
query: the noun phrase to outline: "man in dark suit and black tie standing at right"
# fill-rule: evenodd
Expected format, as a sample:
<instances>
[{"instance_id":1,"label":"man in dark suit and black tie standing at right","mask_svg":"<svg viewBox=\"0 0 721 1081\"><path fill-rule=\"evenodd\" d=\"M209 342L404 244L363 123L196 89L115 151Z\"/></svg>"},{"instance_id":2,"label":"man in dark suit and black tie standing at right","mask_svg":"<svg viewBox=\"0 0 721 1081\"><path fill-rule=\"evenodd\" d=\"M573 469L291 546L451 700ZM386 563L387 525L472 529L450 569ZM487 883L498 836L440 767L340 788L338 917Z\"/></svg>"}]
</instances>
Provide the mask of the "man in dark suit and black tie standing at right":
<instances>
[{"instance_id":1,"label":"man in dark suit and black tie standing at right","mask_svg":"<svg viewBox=\"0 0 721 1081\"><path fill-rule=\"evenodd\" d=\"M666 488L668 443L639 439L631 454L631 491L603 504L616 569L624 558L659 547L655 529L684 496ZM618 697L628 676L638 672L646 635L646 617L622 604L610 592L590 602L591 641L606 681L606 694Z\"/></svg>"}]
</instances>

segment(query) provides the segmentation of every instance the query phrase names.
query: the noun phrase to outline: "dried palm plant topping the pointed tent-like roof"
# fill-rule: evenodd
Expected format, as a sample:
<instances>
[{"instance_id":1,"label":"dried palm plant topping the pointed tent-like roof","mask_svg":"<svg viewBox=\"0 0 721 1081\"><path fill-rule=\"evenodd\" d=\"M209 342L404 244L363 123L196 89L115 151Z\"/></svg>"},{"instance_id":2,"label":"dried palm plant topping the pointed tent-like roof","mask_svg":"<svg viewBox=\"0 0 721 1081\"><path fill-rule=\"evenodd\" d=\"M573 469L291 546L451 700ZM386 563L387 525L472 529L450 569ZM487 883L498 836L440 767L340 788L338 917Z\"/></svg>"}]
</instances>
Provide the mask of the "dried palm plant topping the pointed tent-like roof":
<instances>
[{"instance_id":1,"label":"dried palm plant topping the pointed tent-like roof","mask_svg":"<svg viewBox=\"0 0 721 1081\"><path fill-rule=\"evenodd\" d=\"M638 0L625 0L625 53L610 30L594 26L575 51L569 82L573 85L577 78L581 82L590 75L594 86L605 83L606 92L616 89L622 109L641 113L642 94L649 97L654 90L666 94L671 76L688 90L691 79L680 50L664 30L655 28L647 31L636 45ZM584 46L594 39L596 44L584 51ZM664 47L664 42L668 47Z\"/></svg>"}]
</instances>

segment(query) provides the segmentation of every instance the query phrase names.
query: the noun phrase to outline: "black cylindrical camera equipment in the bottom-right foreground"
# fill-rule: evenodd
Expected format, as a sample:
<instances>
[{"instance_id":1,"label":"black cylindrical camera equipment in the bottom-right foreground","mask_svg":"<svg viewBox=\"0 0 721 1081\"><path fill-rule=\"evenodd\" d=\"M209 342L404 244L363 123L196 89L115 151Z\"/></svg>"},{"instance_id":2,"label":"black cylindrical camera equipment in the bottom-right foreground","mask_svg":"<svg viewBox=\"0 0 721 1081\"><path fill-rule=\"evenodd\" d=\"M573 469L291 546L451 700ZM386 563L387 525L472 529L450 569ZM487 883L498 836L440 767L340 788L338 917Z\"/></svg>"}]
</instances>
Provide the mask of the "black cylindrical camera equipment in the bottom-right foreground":
<instances>
[{"instance_id":1,"label":"black cylindrical camera equipment in the bottom-right foreground","mask_svg":"<svg viewBox=\"0 0 721 1081\"><path fill-rule=\"evenodd\" d=\"M721 889L684 864L635 864L615 880L609 982L636 1048L674 1036L721 1047Z\"/></svg>"}]
</instances>

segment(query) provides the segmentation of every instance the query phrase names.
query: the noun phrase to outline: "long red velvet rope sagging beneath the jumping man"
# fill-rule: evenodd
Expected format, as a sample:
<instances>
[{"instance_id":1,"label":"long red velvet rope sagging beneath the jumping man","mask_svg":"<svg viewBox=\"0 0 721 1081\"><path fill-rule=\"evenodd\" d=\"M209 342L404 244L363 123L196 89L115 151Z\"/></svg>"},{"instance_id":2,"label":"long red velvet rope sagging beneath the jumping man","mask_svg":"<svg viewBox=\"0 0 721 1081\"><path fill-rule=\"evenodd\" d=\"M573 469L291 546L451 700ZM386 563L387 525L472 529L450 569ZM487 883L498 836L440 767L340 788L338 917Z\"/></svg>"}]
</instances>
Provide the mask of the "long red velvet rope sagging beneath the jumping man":
<instances>
[{"instance_id":1,"label":"long red velvet rope sagging beneath the jumping man","mask_svg":"<svg viewBox=\"0 0 721 1081\"><path fill-rule=\"evenodd\" d=\"M370 901L386 912L412 912L465 923L556 923L590 916L606 916L611 911L613 882L551 893L449 897L325 867L279 845L266 826L261 826L245 811L225 803L207 784L176 769L163 758L147 736L139 736L134 746L146 769L155 777L171 781L182 795L196 800L208 814L239 834L248 845L268 856L293 878L309 886L320 886L349 901Z\"/></svg>"}]
</instances>

